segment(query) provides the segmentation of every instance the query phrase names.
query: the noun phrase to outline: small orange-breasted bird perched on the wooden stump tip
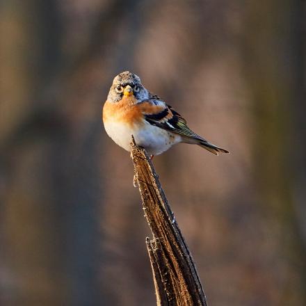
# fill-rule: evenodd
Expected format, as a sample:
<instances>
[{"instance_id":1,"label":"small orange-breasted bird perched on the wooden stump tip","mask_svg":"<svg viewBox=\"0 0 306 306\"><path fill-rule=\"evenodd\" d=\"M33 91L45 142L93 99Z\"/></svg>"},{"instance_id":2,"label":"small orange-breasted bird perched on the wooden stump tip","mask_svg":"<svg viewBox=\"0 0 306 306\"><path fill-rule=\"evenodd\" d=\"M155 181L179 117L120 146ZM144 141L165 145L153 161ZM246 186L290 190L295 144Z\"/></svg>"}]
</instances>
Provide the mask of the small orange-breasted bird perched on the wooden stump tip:
<instances>
[{"instance_id":1,"label":"small orange-breasted bird perched on the wooden stump tip","mask_svg":"<svg viewBox=\"0 0 306 306\"><path fill-rule=\"evenodd\" d=\"M130 150L131 135L151 156L161 154L176 143L192 143L218 155L228 153L195 134L170 105L152 95L129 71L113 79L103 107L106 133L115 143Z\"/></svg>"}]
</instances>

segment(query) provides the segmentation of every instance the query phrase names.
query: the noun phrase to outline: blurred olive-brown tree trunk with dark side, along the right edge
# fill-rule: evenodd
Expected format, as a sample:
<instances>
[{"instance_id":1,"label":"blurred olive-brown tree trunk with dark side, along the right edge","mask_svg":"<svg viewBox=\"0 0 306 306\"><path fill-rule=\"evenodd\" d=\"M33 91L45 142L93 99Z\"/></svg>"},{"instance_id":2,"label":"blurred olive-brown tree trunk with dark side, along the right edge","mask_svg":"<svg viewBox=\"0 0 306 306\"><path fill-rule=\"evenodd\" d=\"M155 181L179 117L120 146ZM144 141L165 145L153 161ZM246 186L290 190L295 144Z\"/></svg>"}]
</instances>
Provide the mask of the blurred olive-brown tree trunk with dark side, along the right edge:
<instances>
[{"instance_id":1,"label":"blurred olive-brown tree trunk with dark side, along the right edge","mask_svg":"<svg viewBox=\"0 0 306 306\"><path fill-rule=\"evenodd\" d=\"M280 6L273 0L264 5L250 1L245 15L243 58L253 99L257 188L261 209L277 237L275 248L287 258L280 276L284 290L275 305L306 303L305 236L298 216L301 203L294 197L305 182L305 120L298 115L305 109L302 2L284 1ZM286 282L286 273L295 276Z\"/></svg>"}]
</instances>

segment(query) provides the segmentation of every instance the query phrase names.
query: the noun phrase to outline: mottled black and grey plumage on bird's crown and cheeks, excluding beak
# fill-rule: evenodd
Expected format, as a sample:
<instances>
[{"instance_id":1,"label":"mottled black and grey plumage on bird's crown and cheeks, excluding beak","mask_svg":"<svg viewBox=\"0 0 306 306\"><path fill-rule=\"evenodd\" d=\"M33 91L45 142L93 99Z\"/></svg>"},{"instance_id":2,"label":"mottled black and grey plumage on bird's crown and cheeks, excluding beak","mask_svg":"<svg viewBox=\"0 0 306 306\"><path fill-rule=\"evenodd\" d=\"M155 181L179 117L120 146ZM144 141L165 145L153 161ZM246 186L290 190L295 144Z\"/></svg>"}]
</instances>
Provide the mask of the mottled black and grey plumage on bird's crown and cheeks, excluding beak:
<instances>
[{"instance_id":1,"label":"mottled black and grey plumage on bird's crown and cheeks, excluding beak","mask_svg":"<svg viewBox=\"0 0 306 306\"><path fill-rule=\"evenodd\" d=\"M143 87L143 84L140 81L140 77L138 77L138 75L132 72L124 71L118 74L113 79L113 84L108 92L108 97L107 97L108 101L119 102L120 99L122 99L122 93L120 94L120 92L116 91L116 88L118 88L118 86L119 87L122 86L124 88L127 85L131 86L131 88L138 86L138 92L134 92L137 102L141 102L144 99L148 99L149 93Z\"/></svg>"}]
</instances>

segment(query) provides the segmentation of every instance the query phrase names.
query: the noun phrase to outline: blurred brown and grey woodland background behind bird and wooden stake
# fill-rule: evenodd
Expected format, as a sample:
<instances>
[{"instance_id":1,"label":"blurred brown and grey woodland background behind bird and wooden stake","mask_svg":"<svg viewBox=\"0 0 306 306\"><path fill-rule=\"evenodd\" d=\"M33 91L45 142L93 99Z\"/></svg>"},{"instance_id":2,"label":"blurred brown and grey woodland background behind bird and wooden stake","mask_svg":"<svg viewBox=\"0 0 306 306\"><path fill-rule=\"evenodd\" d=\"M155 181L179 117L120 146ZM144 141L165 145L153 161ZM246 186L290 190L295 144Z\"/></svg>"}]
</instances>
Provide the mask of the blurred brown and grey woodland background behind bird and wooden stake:
<instances>
[{"instance_id":1,"label":"blurred brown and grey woodland background behind bird and wooden stake","mask_svg":"<svg viewBox=\"0 0 306 306\"><path fill-rule=\"evenodd\" d=\"M154 158L209 305L306 305L305 1L3 0L0 305L156 305L113 77L231 154Z\"/></svg>"}]
</instances>

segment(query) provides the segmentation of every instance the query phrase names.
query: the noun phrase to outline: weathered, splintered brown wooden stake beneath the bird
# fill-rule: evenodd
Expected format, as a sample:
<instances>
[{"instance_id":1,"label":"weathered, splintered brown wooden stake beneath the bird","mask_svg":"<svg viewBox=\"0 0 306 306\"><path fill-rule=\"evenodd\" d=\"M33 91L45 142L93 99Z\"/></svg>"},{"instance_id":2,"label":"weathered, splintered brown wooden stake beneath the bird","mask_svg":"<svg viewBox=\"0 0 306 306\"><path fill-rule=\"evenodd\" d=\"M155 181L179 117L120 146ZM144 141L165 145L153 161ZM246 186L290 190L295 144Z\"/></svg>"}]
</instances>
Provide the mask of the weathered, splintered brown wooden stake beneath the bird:
<instances>
[{"instance_id":1,"label":"weathered, splintered brown wooden stake beneath the bird","mask_svg":"<svg viewBox=\"0 0 306 306\"><path fill-rule=\"evenodd\" d=\"M131 142L145 218L153 239L147 238L158 306L207 306L200 277L188 246L170 209L159 177L143 148Z\"/></svg>"}]
</instances>

